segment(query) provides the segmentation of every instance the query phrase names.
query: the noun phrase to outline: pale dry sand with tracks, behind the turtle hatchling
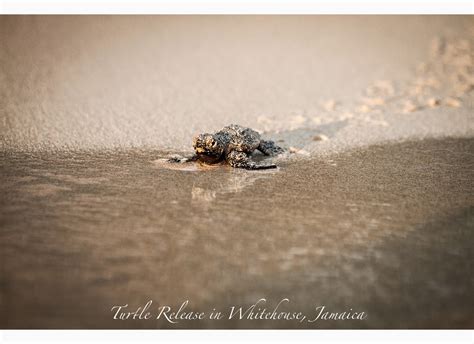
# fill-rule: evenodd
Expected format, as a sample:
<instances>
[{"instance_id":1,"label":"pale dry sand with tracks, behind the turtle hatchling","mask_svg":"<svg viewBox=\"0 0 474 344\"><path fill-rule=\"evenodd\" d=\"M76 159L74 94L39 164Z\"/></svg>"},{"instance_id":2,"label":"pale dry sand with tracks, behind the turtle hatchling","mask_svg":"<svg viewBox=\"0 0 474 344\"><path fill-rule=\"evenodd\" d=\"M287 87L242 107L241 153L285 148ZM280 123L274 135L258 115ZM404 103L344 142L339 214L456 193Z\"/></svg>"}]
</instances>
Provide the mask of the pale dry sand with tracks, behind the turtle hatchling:
<instances>
[{"instance_id":1,"label":"pale dry sand with tracks, behind the turtle hatchling","mask_svg":"<svg viewBox=\"0 0 474 344\"><path fill-rule=\"evenodd\" d=\"M0 145L189 150L230 123L330 139L311 152L472 136L473 28L469 16L4 16Z\"/></svg>"}]
</instances>

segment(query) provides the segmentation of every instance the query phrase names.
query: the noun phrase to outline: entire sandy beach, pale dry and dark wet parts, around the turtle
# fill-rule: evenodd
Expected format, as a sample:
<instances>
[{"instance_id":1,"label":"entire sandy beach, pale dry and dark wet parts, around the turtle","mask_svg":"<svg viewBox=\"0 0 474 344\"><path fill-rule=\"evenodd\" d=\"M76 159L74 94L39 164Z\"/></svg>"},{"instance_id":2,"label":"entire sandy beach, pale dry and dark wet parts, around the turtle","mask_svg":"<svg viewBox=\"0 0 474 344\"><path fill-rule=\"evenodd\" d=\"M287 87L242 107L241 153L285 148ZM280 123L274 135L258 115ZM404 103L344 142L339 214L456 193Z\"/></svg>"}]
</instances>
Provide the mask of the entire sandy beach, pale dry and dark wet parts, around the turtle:
<instances>
[{"instance_id":1,"label":"entire sandy beach, pale dry and dark wet parts, around the turtle","mask_svg":"<svg viewBox=\"0 0 474 344\"><path fill-rule=\"evenodd\" d=\"M472 16L2 16L0 44L1 328L474 326ZM230 123L291 153L164 162ZM111 311L260 298L368 317Z\"/></svg>"}]
</instances>

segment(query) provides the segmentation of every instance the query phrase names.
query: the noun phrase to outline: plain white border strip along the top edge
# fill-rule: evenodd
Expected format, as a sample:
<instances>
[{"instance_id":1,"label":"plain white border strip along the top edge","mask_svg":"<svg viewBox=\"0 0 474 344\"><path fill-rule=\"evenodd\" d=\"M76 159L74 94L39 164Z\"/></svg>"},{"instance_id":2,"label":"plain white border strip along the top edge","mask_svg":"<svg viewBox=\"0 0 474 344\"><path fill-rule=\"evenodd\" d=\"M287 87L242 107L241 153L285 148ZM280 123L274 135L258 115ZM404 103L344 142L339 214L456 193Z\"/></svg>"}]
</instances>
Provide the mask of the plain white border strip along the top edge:
<instances>
[{"instance_id":1,"label":"plain white border strip along the top edge","mask_svg":"<svg viewBox=\"0 0 474 344\"><path fill-rule=\"evenodd\" d=\"M473 0L0 0L2 14L473 14Z\"/></svg>"}]
</instances>

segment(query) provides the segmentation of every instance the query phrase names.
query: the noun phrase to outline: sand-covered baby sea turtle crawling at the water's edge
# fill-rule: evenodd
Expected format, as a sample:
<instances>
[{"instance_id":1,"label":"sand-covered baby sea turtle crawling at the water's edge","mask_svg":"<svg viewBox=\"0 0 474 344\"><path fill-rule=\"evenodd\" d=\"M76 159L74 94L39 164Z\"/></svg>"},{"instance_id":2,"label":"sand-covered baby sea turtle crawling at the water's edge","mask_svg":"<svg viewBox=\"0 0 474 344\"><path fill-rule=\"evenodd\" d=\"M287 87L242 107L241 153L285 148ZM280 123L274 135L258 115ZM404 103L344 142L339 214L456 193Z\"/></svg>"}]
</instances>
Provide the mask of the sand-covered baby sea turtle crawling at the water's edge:
<instances>
[{"instance_id":1,"label":"sand-covered baby sea turtle crawling at the water's edge","mask_svg":"<svg viewBox=\"0 0 474 344\"><path fill-rule=\"evenodd\" d=\"M274 164L264 165L251 161L250 155L255 150L268 156L284 151L275 142L262 140L255 130L236 124L224 127L214 134L206 133L194 137L193 147L196 154L189 160L199 160L206 164L226 161L232 167L248 170L276 168Z\"/></svg>"}]
</instances>

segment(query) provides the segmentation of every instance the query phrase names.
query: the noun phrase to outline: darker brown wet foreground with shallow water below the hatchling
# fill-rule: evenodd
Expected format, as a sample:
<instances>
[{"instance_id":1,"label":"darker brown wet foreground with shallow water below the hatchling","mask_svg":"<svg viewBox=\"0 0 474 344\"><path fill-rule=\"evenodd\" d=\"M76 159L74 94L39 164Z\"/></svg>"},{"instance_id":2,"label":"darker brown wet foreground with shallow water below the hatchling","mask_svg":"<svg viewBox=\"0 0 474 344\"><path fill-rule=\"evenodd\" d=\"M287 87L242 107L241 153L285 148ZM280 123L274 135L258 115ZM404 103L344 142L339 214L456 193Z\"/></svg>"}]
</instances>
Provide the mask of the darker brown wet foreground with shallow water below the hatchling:
<instances>
[{"instance_id":1,"label":"darker brown wet foreground with shallow water below the hatchling","mask_svg":"<svg viewBox=\"0 0 474 344\"><path fill-rule=\"evenodd\" d=\"M154 151L3 153L1 327L472 327L473 152L473 139L425 140L264 173L166 169ZM368 318L171 325L110 311L261 297Z\"/></svg>"}]
</instances>

